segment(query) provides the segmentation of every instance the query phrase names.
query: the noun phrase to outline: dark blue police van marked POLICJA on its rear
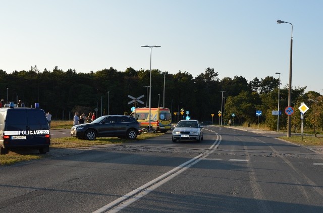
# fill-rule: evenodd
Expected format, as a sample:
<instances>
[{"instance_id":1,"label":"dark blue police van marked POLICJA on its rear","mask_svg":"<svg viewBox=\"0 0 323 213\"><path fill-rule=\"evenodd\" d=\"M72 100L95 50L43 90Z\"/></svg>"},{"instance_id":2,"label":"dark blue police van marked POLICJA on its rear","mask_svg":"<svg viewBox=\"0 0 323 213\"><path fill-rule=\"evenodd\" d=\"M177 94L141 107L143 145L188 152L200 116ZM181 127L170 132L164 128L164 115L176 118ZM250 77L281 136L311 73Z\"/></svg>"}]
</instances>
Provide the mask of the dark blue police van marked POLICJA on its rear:
<instances>
[{"instance_id":1,"label":"dark blue police van marked POLICJA on its rear","mask_svg":"<svg viewBox=\"0 0 323 213\"><path fill-rule=\"evenodd\" d=\"M18 107L14 102L0 102L0 154L16 148L49 151L50 134L45 112L35 108Z\"/></svg>"}]
</instances>

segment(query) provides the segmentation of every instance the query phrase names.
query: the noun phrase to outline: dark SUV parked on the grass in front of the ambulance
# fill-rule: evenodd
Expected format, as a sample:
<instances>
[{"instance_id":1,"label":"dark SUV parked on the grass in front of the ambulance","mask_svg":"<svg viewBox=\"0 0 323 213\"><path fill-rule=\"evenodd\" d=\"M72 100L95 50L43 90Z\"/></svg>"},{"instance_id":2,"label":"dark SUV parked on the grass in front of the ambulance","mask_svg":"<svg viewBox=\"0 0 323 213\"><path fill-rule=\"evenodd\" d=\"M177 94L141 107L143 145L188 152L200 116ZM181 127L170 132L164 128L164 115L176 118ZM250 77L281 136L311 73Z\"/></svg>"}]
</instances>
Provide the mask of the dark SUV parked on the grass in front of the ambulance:
<instances>
[{"instance_id":1,"label":"dark SUV parked on the grass in front of the ambulance","mask_svg":"<svg viewBox=\"0 0 323 213\"><path fill-rule=\"evenodd\" d=\"M86 140L97 137L125 137L134 140L140 134L139 122L133 117L122 115L101 116L91 123L71 128L71 136Z\"/></svg>"}]
</instances>

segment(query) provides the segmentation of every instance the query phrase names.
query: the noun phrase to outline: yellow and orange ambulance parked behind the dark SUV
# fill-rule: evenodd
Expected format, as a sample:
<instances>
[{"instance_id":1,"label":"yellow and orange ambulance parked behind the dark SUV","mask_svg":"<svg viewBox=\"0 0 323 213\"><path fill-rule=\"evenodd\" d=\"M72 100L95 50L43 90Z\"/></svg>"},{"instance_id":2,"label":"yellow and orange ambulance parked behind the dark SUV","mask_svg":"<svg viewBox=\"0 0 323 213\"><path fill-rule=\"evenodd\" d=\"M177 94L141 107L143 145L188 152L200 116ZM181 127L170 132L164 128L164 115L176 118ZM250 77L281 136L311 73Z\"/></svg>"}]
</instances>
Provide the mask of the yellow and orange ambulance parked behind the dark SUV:
<instances>
[{"instance_id":1,"label":"yellow and orange ambulance parked behind the dark SUV","mask_svg":"<svg viewBox=\"0 0 323 213\"><path fill-rule=\"evenodd\" d=\"M136 120L140 123L141 128L149 126L149 108L137 108ZM132 112L130 116L134 116ZM171 112L168 108L150 108L150 125L155 131L167 132L171 130Z\"/></svg>"}]
</instances>

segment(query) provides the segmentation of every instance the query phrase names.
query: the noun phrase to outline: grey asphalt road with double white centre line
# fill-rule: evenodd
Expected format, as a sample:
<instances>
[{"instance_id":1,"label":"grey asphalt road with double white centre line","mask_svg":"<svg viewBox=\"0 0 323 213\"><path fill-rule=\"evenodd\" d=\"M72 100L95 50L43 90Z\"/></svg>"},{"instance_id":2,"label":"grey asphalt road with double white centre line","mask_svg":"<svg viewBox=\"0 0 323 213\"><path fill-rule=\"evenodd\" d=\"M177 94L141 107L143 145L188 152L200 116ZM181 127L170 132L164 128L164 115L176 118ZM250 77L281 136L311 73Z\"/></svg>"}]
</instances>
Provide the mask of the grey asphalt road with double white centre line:
<instances>
[{"instance_id":1,"label":"grey asphalt road with double white centre line","mask_svg":"<svg viewBox=\"0 0 323 213\"><path fill-rule=\"evenodd\" d=\"M0 212L323 212L322 154L276 133L204 131L0 167Z\"/></svg>"}]
</instances>

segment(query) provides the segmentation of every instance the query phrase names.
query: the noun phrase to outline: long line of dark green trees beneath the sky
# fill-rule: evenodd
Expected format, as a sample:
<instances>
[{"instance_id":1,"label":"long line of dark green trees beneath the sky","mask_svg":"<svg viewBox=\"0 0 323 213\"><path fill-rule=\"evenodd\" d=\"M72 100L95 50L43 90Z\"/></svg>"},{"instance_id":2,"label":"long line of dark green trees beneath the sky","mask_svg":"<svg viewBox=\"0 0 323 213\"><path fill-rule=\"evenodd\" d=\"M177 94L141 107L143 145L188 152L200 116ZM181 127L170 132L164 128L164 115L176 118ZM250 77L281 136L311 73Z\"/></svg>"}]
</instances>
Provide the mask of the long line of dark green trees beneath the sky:
<instances>
[{"instance_id":1,"label":"long line of dark green trees beneath the sky","mask_svg":"<svg viewBox=\"0 0 323 213\"><path fill-rule=\"evenodd\" d=\"M0 97L6 100L8 95L9 100L22 100L26 107L34 107L33 104L38 102L44 111L51 112L53 120L70 120L76 111L88 114L95 109L98 116L107 115L108 110L110 115L130 114L133 105L128 104L132 100L128 95L145 95L140 99L145 103L138 103L137 107L149 105L149 73L150 70L131 67L123 72L112 67L89 73L77 73L75 69L63 71L58 67L52 71L39 71L36 65L28 71L7 73L0 70ZM158 107L159 103L159 107L169 108L173 122L177 121L174 113L183 109L184 115L186 111L190 112L191 119L217 123L222 109L223 121L233 120L234 114L235 125L257 123L255 111L262 111L259 122L273 130L277 129L277 116L273 116L272 111L278 110L279 79L273 76L264 79L255 77L248 82L241 75L221 80L218 76L213 68L206 68L195 78L182 71L170 74L158 69L151 70L151 107ZM306 86L292 88L292 107L295 110L291 117L292 127L300 128L298 107L304 102L309 107L304 116L304 125L314 131L322 129L323 96L315 91L305 93L305 89ZM280 110L283 112L279 124L281 129L287 126L286 107L288 85L280 88Z\"/></svg>"}]
</instances>

